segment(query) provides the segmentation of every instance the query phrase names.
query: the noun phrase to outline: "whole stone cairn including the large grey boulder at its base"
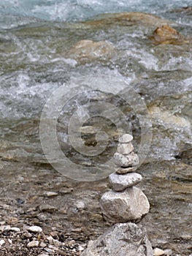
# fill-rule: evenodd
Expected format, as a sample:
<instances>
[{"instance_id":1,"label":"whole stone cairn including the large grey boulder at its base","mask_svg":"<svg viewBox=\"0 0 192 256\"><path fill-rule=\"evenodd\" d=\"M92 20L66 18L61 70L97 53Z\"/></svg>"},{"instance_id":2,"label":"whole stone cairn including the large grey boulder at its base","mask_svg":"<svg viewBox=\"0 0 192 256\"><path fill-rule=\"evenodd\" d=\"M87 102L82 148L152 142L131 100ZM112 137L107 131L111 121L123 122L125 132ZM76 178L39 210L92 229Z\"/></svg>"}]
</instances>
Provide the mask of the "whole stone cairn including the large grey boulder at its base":
<instances>
[{"instance_id":1,"label":"whole stone cairn including the large grey boulder at its base","mask_svg":"<svg viewBox=\"0 0 192 256\"><path fill-rule=\"evenodd\" d=\"M139 157L131 140L131 135L120 136L114 155L118 167L110 174L112 190L100 200L104 218L114 225L96 240L89 241L81 256L153 256L145 228L133 223L147 214L150 204L142 190L134 187L142 181L142 176L135 173Z\"/></svg>"}]
</instances>

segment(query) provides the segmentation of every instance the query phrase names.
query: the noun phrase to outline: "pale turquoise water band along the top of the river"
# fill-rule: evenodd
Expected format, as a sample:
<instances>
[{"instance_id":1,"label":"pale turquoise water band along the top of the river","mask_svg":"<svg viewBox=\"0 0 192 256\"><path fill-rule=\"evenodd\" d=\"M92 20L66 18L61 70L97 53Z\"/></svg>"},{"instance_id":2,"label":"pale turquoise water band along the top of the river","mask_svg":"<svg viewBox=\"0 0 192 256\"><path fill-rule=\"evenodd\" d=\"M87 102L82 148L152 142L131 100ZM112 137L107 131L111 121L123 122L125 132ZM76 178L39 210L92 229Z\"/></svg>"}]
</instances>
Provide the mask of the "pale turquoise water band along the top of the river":
<instances>
[{"instance_id":1,"label":"pale turquoise water band along the top of the river","mask_svg":"<svg viewBox=\"0 0 192 256\"><path fill-rule=\"evenodd\" d=\"M17 23L30 23L37 20L78 21L86 20L107 12L148 12L155 15L167 16L169 11L179 7L190 6L191 1L105 1L105 0L50 0L50 1L24 1L4 0L0 3L1 27L10 28ZM169 15L170 16L170 15ZM179 20L178 15L173 15L174 20ZM181 22L185 22L182 20ZM15 24L14 24L15 23ZM187 23L191 23L189 20Z\"/></svg>"}]
</instances>

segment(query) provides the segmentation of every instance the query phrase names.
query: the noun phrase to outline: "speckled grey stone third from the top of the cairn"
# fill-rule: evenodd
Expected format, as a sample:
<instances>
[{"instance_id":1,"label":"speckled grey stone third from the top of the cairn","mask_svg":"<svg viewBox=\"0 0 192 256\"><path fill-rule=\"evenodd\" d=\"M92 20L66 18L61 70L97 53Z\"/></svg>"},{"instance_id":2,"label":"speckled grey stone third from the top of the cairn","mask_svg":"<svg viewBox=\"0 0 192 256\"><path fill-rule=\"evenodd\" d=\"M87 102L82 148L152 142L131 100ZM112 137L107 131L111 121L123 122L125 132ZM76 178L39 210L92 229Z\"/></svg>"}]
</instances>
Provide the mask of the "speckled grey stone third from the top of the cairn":
<instances>
[{"instance_id":1,"label":"speckled grey stone third from the top of the cairn","mask_svg":"<svg viewBox=\"0 0 192 256\"><path fill-rule=\"evenodd\" d=\"M139 165L139 157L134 152L130 154L123 155L120 153L114 154L115 164L120 167L129 167L129 166L137 166Z\"/></svg>"}]
</instances>

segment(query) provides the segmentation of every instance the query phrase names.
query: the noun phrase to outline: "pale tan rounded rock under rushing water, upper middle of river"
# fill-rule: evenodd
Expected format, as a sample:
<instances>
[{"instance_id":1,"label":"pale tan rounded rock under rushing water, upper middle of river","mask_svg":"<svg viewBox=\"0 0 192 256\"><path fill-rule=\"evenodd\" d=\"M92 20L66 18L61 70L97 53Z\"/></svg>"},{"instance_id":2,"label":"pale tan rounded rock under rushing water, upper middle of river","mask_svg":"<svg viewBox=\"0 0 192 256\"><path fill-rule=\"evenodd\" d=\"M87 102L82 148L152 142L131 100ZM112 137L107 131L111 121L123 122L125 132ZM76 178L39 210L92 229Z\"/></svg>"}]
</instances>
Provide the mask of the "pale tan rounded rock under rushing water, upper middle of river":
<instances>
[{"instance_id":1,"label":"pale tan rounded rock under rushing water, upper middle of river","mask_svg":"<svg viewBox=\"0 0 192 256\"><path fill-rule=\"evenodd\" d=\"M80 40L67 53L67 58L77 62L94 61L96 59L110 59L115 53L115 47L107 41L94 42L92 40Z\"/></svg>"}]
</instances>

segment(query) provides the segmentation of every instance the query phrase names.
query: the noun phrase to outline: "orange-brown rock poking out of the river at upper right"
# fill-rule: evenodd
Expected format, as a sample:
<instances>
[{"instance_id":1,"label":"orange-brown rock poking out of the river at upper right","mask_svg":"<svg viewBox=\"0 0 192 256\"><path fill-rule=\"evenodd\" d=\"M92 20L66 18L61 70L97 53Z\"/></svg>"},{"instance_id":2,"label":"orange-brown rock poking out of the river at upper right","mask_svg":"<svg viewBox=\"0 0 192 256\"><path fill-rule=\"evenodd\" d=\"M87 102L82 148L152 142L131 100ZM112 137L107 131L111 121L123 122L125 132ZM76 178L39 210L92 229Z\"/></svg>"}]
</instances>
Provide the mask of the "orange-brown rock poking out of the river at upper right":
<instances>
[{"instance_id":1,"label":"orange-brown rock poking out of the river at upper right","mask_svg":"<svg viewBox=\"0 0 192 256\"><path fill-rule=\"evenodd\" d=\"M183 45L189 42L182 34L168 25L163 25L155 29L149 39L155 44L166 45Z\"/></svg>"}]
</instances>

